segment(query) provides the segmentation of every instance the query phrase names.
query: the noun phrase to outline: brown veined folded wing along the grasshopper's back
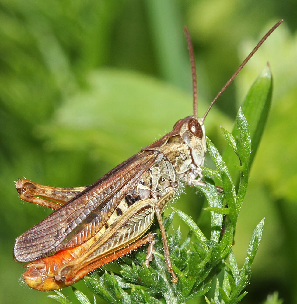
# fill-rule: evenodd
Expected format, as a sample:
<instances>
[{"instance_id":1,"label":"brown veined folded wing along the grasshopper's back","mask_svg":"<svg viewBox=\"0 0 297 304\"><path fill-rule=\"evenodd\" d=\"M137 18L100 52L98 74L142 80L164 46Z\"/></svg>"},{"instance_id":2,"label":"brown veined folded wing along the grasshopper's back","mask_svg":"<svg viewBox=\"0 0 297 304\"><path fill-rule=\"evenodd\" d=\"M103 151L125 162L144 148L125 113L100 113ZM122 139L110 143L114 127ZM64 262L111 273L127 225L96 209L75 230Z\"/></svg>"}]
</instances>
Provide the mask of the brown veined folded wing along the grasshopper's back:
<instances>
[{"instance_id":1,"label":"brown veined folded wing along the grasshopper's back","mask_svg":"<svg viewBox=\"0 0 297 304\"><path fill-rule=\"evenodd\" d=\"M34 261L90 239L107 222L124 196L138 185L159 154L158 151L135 154L16 238L15 259Z\"/></svg>"}]
</instances>

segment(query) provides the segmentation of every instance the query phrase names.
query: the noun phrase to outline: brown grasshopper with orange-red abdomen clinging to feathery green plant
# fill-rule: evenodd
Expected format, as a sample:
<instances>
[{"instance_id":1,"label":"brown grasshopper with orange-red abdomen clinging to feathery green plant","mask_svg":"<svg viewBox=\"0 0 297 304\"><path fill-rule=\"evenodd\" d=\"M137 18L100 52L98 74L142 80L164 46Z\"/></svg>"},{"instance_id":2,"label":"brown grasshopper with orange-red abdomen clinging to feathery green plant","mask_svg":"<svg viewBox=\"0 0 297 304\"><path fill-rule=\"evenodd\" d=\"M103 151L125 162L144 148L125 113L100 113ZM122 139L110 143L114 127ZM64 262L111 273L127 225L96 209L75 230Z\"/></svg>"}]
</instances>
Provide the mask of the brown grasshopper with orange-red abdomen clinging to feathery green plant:
<instances>
[{"instance_id":1,"label":"brown grasshopper with orange-red abdomen clinging to feathery green plant","mask_svg":"<svg viewBox=\"0 0 297 304\"><path fill-rule=\"evenodd\" d=\"M159 223L164 257L176 283L162 211L180 185L205 185L202 167L206 153L205 118L227 86L276 29L275 24L246 57L199 118L194 52L185 28L193 81L193 115L180 119L173 130L144 147L88 187L56 188L21 179L16 188L21 199L55 211L16 238L16 261L29 262L23 274L37 290L55 290L80 280L90 271L150 243L145 264L152 260L154 234L145 233ZM217 187L222 193L222 188ZM145 235L145 236L143 236ZM53 255L51 255L53 254Z\"/></svg>"}]
</instances>

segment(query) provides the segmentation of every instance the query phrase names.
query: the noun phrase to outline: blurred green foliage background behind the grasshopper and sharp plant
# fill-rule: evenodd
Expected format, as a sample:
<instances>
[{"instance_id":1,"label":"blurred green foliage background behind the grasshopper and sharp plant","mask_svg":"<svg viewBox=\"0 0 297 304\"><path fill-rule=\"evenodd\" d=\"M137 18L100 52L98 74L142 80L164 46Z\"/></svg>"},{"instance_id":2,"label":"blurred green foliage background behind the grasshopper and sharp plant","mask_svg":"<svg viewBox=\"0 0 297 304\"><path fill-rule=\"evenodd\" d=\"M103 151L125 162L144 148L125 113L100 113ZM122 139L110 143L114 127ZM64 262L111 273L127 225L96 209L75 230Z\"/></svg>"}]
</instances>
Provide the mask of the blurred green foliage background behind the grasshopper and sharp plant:
<instances>
[{"instance_id":1,"label":"blurred green foliage background behind the grasshopper and sharp plant","mask_svg":"<svg viewBox=\"0 0 297 304\"><path fill-rule=\"evenodd\" d=\"M46 297L53 292L30 290L19 281L24 270L12 258L14 239L51 210L21 203L14 182L25 177L51 186L89 185L190 115L184 25L194 43L202 115L258 40L283 18L205 126L222 152L219 126L231 130L248 88L269 61L271 113L233 250L242 265L252 230L265 216L242 302L261 303L278 291L296 303L296 12L295 0L1 0L0 302L55 302ZM201 195L187 189L175 206L195 218L197 199ZM179 224L175 218L173 226ZM90 295L83 282L75 286ZM70 288L63 293L74 299Z\"/></svg>"}]
</instances>

